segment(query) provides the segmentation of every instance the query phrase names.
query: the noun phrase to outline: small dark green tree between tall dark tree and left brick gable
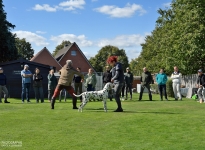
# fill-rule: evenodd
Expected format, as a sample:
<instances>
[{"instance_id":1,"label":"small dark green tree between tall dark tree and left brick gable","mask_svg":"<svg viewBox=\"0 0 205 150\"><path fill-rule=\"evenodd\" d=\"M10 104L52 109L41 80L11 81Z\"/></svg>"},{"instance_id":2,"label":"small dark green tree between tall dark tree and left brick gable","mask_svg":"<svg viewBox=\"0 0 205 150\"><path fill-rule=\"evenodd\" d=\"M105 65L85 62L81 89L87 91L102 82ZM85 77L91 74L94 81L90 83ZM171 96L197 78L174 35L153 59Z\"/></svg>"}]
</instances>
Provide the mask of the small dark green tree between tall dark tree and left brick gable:
<instances>
[{"instance_id":1,"label":"small dark green tree between tall dark tree and left brick gable","mask_svg":"<svg viewBox=\"0 0 205 150\"><path fill-rule=\"evenodd\" d=\"M26 42L26 39L15 39L16 48L18 50L18 58L24 58L30 60L34 56L34 50L31 47L29 42Z\"/></svg>"}]
</instances>

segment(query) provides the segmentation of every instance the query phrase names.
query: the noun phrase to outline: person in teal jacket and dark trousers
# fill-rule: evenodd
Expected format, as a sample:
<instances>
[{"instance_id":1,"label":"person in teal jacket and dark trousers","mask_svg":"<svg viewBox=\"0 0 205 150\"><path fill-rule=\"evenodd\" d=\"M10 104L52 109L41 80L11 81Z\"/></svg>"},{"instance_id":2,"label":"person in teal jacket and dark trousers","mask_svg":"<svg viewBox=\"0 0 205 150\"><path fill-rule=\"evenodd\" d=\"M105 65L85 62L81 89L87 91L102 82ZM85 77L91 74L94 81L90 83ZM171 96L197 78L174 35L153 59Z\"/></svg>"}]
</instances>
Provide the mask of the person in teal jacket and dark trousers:
<instances>
[{"instance_id":1,"label":"person in teal jacket and dark trousers","mask_svg":"<svg viewBox=\"0 0 205 150\"><path fill-rule=\"evenodd\" d=\"M168 101L167 90L166 90L167 75L164 73L164 69L160 69L159 73L156 76L156 82L158 84L161 101L163 101L163 92L164 92L165 99Z\"/></svg>"}]
</instances>

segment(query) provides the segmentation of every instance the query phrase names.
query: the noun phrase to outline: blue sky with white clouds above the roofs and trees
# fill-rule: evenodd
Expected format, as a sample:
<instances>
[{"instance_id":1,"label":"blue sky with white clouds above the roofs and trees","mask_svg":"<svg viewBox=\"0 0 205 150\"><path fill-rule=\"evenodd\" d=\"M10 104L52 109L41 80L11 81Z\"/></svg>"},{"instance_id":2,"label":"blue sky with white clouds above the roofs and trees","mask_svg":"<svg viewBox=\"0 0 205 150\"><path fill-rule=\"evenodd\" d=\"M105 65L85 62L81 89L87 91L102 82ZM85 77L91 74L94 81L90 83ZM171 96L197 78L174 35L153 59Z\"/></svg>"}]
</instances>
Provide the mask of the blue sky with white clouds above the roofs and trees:
<instances>
[{"instance_id":1,"label":"blue sky with white clouds above the roofs and trees","mask_svg":"<svg viewBox=\"0 0 205 150\"><path fill-rule=\"evenodd\" d=\"M155 28L159 8L171 0L3 0L12 30L31 43L35 54L52 53L63 40L76 42L89 59L106 45L137 58Z\"/></svg>"}]
</instances>

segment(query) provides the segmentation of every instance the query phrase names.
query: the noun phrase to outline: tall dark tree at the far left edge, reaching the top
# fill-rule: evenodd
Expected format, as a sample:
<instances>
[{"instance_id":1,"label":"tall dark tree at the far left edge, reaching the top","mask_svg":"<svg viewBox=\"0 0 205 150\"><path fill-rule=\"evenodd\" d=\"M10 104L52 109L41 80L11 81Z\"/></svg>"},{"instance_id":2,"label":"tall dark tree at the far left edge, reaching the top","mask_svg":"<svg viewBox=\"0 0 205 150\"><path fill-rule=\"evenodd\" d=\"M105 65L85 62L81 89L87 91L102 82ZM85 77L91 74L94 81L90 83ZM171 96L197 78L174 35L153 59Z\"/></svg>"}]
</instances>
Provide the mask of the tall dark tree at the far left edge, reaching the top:
<instances>
[{"instance_id":1,"label":"tall dark tree at the far left edge, reaching the top","mask_svg":"<svg viewBox=\"0 0 205 150\"><path fill-rule=\"evenodd\" d=\"M6 20L6 13L3 7L3 1L0 0L0 63L16 60L18 57L15 47L15 35L10 31L15 25Z\"/></svg>"}]
</instances>

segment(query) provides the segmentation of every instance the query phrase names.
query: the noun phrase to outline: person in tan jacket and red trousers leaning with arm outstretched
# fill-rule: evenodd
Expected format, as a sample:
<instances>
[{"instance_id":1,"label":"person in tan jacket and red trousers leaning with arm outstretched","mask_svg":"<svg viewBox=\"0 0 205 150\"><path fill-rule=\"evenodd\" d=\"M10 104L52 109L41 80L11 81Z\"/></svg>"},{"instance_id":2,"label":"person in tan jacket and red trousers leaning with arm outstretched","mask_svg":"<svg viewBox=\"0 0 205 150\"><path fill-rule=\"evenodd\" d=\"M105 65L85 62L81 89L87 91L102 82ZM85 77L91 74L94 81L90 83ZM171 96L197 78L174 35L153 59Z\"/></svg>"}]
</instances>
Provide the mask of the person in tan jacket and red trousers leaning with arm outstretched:
<instances>
[{"instance_id":1,"label":"person in tan jacket and red trousers leaning with arm outstretched","mask_svg":"<svg viewBox=\"0 0 205 150\"><path fill-rule=\"evenodd\" d=\"M83 80L84 80L83 74L73 68L73 64L72 64L71 60L66 61L66 64L59 71L59 74L60 74L60 78L58 80L58 85L55 88L54 94L53 94L52 99L51 99L51 109L54 109L56 97L59 96L60 91L62 89L66 89L66 91L68 91L68 93L72 96L73 109L78 109L76 106L77 105L77 97L75 97L73 95L73 93L75 93L75 91L74 91L73 87L71 86L71 82L73 81L73 77L75 74L81 76L81 78L82 78L81 82L83 82Z\"/></svg>"}]
</instances>

